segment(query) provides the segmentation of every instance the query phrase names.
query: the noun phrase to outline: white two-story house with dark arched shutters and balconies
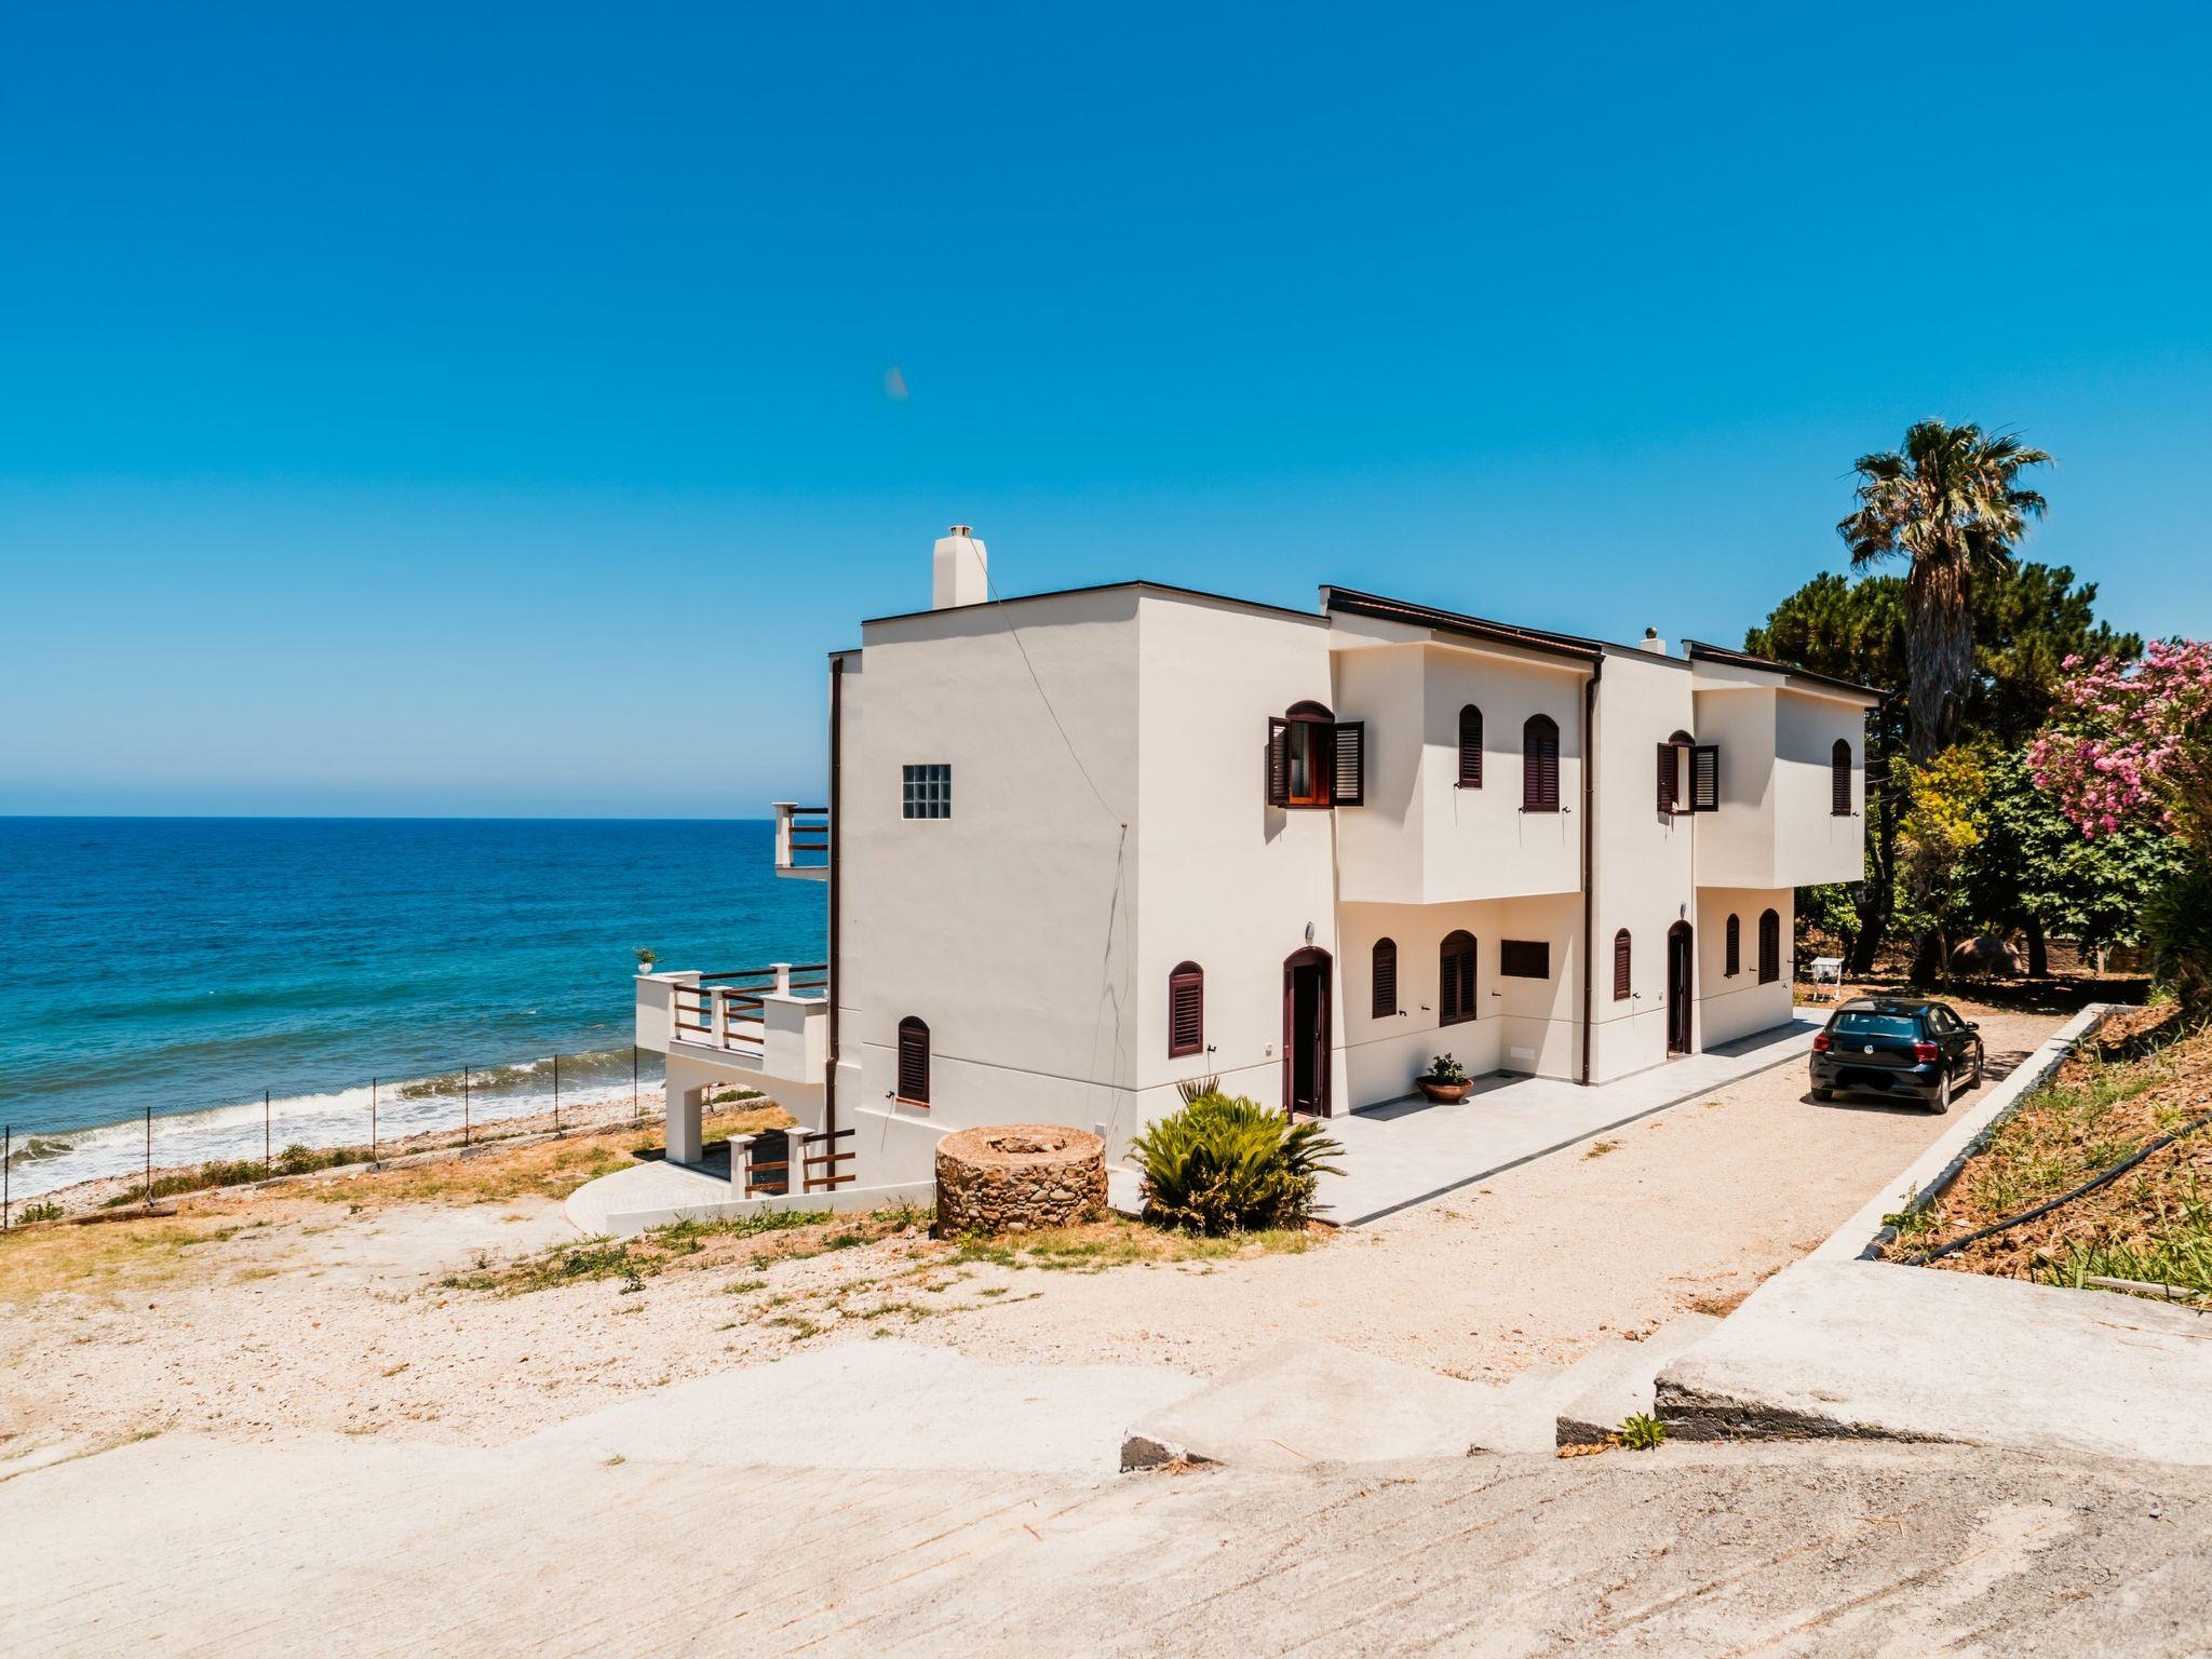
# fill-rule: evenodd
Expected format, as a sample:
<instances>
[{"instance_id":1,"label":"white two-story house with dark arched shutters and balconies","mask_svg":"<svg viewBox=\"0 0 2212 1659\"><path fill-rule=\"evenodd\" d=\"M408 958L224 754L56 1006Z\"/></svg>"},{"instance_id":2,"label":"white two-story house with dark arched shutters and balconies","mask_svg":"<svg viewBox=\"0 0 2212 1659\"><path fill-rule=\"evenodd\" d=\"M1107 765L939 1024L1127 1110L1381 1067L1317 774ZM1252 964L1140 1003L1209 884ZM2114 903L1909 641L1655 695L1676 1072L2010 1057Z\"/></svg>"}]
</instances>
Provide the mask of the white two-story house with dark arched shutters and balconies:
<instances>
[{"instance_id":1,"label":"white two-story house with dark arched shutters and balconies","mask_svg":"<svg viewBox=\"0 0 2212 1659\"><path fill-rule=\"evenodd\" d=\"M1314 613L1157 582L933 604L830 659L827 960L639 975L670 1150L765 1088L863 1183L953 1128L1093 1128L1177 1084L1296 1113L1431 1055L1606 1082L1792 1018L1792 889L1863 860L1878 695L1736 650L1515 628L1347 588Z\"/></svg>"}]
</instances>

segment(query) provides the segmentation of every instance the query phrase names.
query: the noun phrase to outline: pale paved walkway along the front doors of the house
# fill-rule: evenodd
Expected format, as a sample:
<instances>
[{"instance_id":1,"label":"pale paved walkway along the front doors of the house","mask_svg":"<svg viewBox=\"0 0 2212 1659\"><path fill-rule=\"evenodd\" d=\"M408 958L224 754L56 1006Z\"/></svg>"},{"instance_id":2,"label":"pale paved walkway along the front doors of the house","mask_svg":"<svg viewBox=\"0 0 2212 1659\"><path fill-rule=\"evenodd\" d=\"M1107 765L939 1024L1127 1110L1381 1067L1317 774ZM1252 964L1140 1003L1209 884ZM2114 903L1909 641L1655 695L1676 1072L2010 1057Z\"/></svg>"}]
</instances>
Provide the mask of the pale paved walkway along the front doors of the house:
<instances>
[{"instance_id":1,"label":"pale paved walkway along the front doors of the house","mask_svg":"<svg viewBox=\"0 0 2212 1659\"><path fill-rule=\"evenodd\" d=\"M1455 1106L1409 1095L1332 1117L1327 1133L1345 1146L1343 1175L1321 1177L1321 1214L1340 1228L1378 1221L1608 1128L1705 1099L1803 1057L1823 1020L1827 1009L1807 1009L1774 1031L1590 1088L1559 1077L1484 1077Z\"/></svg>"}]
</instances>

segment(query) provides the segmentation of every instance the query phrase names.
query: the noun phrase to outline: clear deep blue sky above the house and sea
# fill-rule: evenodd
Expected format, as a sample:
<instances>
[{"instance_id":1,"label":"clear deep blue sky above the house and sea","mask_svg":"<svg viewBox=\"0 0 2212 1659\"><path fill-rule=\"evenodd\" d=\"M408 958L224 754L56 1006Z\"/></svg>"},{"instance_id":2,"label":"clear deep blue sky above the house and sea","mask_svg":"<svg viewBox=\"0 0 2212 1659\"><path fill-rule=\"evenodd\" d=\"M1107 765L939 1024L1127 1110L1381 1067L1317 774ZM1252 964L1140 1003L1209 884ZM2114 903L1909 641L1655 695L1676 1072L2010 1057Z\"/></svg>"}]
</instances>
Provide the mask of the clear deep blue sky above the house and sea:
<instances>
[{"instance_id":1,"label":"clear deep blue sky above the house and sea","mask_svg":"<svg viewBox=\"0 0 2212 1659\"><path fill-rule=\"evenodd\" d=\"M0 812L754 814L927 602L1736 639L1916 416L2212 633L2203 7L33 7ZM887 392L891 365L909 396Z\"/></svg>"}]
</instances>

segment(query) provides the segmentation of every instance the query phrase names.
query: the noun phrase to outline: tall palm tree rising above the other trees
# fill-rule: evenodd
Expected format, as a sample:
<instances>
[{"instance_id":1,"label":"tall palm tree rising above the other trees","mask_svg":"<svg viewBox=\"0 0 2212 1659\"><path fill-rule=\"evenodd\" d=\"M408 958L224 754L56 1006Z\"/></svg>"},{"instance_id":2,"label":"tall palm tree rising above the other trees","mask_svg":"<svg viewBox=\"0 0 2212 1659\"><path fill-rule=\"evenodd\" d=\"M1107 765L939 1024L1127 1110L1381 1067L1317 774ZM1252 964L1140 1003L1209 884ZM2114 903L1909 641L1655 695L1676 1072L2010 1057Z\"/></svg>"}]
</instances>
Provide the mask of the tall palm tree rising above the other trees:
<instances>
[{"instance_id":1,"label":"tall palm tree rising above the other trees","mask_svg":"<svg viewBox=\"0 0 2212 1659\"><path fill-rule=\"evenodd\" d=\"M1905 677L1916 765L1958 739L1973 681L1973 577L2008 571L2013 544L2044 498L2020 489L2051 456L2011 434L1918 420L1905 449L1860 456L1858 511L1836 533L1851 566L1907 557Z\"/></svg>"}]
</instances>

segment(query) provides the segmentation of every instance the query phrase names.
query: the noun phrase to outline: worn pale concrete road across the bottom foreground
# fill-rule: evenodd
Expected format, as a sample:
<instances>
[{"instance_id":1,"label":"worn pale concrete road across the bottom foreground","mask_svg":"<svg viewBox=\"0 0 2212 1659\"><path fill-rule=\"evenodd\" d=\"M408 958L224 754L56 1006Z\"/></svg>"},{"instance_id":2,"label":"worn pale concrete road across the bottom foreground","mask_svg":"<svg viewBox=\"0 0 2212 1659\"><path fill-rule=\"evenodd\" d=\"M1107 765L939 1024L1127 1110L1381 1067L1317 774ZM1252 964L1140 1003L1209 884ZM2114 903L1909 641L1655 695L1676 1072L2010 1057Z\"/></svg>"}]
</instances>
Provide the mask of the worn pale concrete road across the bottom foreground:
<instances>
[{"instance_id":1,"label":"worn pale concrete road across the bottom foreground","mask_svg":"<svg viewBox=\"0 0 2212 1659\"><path fill-rule=\"evenodd\" d=\"M2077 1659L2212 1632L2212 1471L1958 1447L1077 1478L161 1436L0 1480L0 1646L40 1659Z\"/></svg>"}]
</instances>

